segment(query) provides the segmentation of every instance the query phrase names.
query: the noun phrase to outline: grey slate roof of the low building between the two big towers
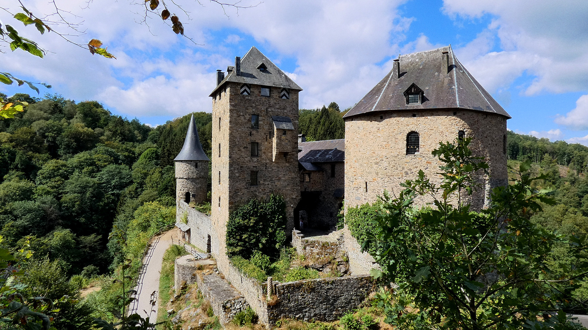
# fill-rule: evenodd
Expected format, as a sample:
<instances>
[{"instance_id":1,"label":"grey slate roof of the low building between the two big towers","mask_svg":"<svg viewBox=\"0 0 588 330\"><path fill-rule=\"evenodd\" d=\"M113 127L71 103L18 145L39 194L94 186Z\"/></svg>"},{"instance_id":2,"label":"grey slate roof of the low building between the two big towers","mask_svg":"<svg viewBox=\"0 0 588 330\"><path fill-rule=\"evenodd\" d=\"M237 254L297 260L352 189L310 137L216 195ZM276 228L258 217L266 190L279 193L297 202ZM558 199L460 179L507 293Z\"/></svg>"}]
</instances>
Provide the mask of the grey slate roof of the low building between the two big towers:
<instances>
[{"instance_id":1,"label":"grey slate roof of the low building between the two big towers","mask_svg":"<svg viewBox=\"0 0 588 330\"><path fill-rule=\"evenodd\" d=\"M345 139L302 142L298 147L302 147L298 153L298 161L302 166L303 163L345 161Z\"/></svg>"}]
</instances>

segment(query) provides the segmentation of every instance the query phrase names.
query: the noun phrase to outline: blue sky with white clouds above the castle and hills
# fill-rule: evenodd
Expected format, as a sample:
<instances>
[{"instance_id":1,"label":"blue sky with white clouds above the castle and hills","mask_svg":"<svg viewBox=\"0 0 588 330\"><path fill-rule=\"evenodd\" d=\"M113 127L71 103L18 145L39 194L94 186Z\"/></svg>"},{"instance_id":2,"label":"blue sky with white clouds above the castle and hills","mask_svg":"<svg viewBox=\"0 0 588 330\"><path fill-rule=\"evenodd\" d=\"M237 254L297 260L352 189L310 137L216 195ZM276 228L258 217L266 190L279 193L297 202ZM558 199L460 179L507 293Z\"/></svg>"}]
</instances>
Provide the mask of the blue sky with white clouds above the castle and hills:
<instances>
[{"instance_id":1,"label":"blue sky with white clouds above the castle and hills","mask_svg":"<svg viewBox=\"0 0 588 330\"><path fill-rule=\"evenodd\" d=\"M112 113L151 126L186 113L211 112L217 69L255 46L295 80L300 107L355 105L399 54L451 45L457 58L512 116L517 133L588 146L588 1L524 0L209 0L164 1L183 24L176 35L139 0L55 0L76 32L96 38L116 59L91 55L56 33L40 35L2 0L0 21L48 50L44 58L0 43L0 72L45 82L44 93L96 100ZM22 0L37 16L48 0ZM157 11L162 9L162 4ZM10 14L11 13L11 14ZM145 18L146 16L146 18ZM56 15L49 16L56 20ZM168 20L169 22L169 20ZM0 84L6 95L31 93Z\"/></svg>"}]
</instances>

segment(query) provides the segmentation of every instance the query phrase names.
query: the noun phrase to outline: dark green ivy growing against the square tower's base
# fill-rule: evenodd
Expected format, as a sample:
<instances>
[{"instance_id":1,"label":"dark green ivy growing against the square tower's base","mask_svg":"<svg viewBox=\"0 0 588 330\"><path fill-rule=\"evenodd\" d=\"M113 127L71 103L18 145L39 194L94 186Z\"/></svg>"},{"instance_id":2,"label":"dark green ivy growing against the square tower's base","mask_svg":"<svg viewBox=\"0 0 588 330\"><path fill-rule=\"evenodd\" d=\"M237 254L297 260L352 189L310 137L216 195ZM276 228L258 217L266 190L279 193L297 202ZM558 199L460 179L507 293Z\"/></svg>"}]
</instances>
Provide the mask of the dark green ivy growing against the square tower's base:
<instances>
[{"instance_id":1,"label":"dark green ivy growing against the square tower's base","mask_svg":"<svg viewBox=\"0 0 588 330\"><path fill-rule=\"evenodd\" d=\"M249 259L258 251L276 260L286 242L286 204L272 194L267 202L255 198L229 214L226 248L229 257Z\"/></svg>"}]
</instances>

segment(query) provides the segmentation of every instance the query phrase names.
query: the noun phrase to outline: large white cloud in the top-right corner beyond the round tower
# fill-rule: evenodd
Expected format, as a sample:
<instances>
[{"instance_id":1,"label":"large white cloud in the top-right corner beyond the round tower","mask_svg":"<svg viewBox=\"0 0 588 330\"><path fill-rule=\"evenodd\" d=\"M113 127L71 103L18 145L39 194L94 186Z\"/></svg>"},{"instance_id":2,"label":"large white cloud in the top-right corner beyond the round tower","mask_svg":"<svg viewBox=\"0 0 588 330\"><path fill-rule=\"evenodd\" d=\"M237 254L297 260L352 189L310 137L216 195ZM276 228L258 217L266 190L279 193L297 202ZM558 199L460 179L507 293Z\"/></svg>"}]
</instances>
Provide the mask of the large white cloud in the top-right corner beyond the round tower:
<instances>
[{"instance_id":1,"label":"large white cloud in the top-right corner beyond the round tower","mask_svg":"<svg viewBox=\"0 0 588 330\"><path fill-rule=\"evenodd\" d=\"M503 50L474 52L472 56L460 53L465 55L462 62L491 92L509 87L523 72L536 76L523 86L526 95L588 88L588 2L445 0L443 10L466 19L494 16L486 33L496 35ZM482 45L493 45L492 38L479 38L486 40ZM480 40L470 45L473 43L479 46Z\"/></svg>"}]
</instances>

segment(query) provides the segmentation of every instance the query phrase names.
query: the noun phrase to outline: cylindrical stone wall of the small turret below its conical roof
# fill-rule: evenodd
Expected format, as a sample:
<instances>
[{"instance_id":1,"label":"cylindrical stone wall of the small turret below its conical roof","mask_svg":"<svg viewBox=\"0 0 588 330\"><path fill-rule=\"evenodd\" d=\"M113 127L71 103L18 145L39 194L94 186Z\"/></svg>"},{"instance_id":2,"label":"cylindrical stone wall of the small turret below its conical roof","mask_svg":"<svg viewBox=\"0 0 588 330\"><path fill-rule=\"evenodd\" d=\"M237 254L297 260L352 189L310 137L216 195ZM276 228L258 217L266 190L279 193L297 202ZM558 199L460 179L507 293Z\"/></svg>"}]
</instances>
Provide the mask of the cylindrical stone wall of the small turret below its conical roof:
<instances>
[{"instance_id":1,"label":"cylindrical stone wall of the small turret below its conical roof","mask_svg":"<svg viewBox=\"0 0 588 330\"><path fill-rule=\"evenodd\" d=\"M196 204L206 201L208 161L180 160L175 162L176 201L184 200L186 192Z\"/></svg>"}]
</instances>

